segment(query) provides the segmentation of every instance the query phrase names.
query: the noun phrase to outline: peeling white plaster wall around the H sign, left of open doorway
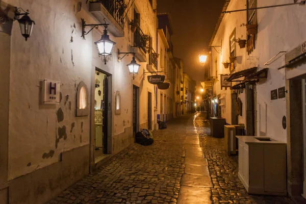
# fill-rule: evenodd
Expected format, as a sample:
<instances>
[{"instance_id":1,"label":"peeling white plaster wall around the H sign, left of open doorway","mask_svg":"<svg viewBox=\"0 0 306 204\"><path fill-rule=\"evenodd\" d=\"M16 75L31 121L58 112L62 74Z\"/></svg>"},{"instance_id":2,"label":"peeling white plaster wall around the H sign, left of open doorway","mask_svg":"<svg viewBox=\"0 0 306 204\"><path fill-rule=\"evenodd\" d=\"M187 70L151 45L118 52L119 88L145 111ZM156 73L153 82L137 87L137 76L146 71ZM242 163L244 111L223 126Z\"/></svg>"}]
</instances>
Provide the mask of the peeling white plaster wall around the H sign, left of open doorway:
<instances>
[{"instance_id":1,"label":"peeling white plaster wall around the H sign, left of open doorway","mask_svg":"<svg viewBox=\"0 0 306 204\"><path fill-rule=\"evenodd\" d=\"M63 151L89 143L89 116L75 117L75 96L81 81L89 90L91 87L92 44L90 36L86 41L80 37L80 18L87 19L88 14L83 9L77 11L76 1L7 3L29 9L36 23L27 42L20 35L17 22L11 37L8 177L12 180L58 162ZM40 105L40 81L44 79L61 82L60 105ZM60 122L59 108L64 113ZM72 123L75 126L71 131ZM58 127L64 125L67 138L59 139L56 145Z\"/></svg>"}]
</instances>

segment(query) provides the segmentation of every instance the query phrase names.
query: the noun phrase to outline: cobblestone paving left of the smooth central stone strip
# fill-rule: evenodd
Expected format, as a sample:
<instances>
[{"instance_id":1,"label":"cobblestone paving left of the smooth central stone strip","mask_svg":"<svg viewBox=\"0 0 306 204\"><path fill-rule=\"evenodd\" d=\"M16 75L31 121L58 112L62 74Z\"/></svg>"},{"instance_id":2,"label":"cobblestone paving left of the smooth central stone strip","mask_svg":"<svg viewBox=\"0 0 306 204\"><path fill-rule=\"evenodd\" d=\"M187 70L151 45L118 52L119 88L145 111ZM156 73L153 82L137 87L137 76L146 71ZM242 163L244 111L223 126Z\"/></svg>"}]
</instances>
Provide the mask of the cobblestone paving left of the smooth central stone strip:
<instances>
[{"instance_id":1,"label":"cobblestone paving left of the smooth central stone strip","mask_svg":"<svg viewBox=\"0 0 306 204\"><path fill-rule=\"evenodd\" d=\"M169 121L152 145L130 145L48 203L176 203L189 118Z\"/></svg>"}]
</instances>

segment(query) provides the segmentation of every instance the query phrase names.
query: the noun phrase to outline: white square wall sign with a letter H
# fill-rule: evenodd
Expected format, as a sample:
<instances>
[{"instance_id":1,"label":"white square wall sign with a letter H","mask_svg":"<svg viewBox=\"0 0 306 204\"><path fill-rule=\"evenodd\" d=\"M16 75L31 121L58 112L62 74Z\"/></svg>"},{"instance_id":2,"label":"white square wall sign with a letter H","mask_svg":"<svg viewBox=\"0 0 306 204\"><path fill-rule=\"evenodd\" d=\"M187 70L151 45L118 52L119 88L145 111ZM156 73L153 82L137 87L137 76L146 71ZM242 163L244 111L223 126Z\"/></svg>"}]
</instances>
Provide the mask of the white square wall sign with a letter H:
<instances>
[{"instance_id":1,"label":"white square wall sign with a letter H","mask_svg":"<svg viewBox=\"0 0 306 204\"><path fill-rule=\"evenodd\" d=\"M54 80L42 81L42 103L59 104L60 103L60 82Z\"/></svg>"}]
</instances>

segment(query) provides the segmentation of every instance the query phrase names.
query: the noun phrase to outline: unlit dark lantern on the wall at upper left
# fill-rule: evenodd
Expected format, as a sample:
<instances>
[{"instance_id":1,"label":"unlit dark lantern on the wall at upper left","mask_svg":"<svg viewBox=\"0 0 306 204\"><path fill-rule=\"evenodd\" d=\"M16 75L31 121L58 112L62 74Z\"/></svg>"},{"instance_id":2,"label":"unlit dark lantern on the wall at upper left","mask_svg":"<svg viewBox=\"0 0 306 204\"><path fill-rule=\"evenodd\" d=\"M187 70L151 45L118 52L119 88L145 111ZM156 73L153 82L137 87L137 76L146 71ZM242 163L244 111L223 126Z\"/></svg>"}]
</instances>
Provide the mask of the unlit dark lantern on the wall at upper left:
<instances>
[{"instance_id":1,"label":"unlit dark lantern on the wall at upper left","mask_svg":"<svg viewBox=\"0 0 306 204\"><path fill-rule=\"evenodd\" d=\"M22 8L17 8L15 11L15 20L18 20L21 35L25 38L25 41L31 36L33 25L35 24L34 20L32 20L29 15L29 10L24 11ZM22 16L23 15L23 16ZM22 16L19 18L19 16Z\"/></svg>"}]
</instances>

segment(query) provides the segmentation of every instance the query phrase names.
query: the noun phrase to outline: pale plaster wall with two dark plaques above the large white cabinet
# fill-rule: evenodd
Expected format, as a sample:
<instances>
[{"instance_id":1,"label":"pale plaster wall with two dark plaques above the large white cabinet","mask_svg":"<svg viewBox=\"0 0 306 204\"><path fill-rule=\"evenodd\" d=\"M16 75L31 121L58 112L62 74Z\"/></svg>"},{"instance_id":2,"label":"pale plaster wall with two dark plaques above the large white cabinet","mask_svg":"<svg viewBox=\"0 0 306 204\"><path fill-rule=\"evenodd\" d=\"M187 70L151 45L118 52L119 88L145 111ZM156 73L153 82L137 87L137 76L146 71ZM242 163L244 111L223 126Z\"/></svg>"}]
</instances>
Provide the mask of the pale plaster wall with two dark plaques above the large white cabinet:
<instances>
[{"instance_id":1,"label":"pale plaster wall with two dark plaques above the large white cabinet","mask_svg":"<svg viewBox=\"0 0 306 204\"><path fill-rule=\"evenodd\" d=\"M292 3L289 0L258 1L258 6ZM260 67L281 51L290 51L306 41L306 6L286 6L258 10L258 41L257 50ZM294 69L281 69L285 65L285 56L271 63L266 83L257 85L258 103L267 104L267 136L286 142L287 133L282 127L282 118L286 116L286 99L270 99L270 91L286 85L285 79L290 79L306 73L306 66ZM286 71L286 73L285 73Z\"/></svg>"}]
</instances>

